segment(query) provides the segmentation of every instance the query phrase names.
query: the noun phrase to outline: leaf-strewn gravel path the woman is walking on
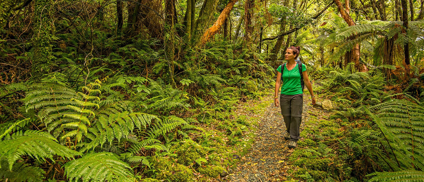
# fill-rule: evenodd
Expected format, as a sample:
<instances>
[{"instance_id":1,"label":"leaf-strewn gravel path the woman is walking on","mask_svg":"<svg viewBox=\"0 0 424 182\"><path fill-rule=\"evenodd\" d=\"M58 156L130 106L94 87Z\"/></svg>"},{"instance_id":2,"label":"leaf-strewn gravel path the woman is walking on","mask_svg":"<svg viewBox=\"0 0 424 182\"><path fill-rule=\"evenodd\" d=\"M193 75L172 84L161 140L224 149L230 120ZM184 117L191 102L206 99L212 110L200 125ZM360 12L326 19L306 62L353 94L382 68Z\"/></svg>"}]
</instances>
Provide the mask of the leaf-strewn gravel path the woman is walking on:
<instances>
[{"instance_id":1,"label":"leaf-strewn gravel path the woman is walking on","mask_svg":"<svg viewBox=\"0 0 424 182\"><path fill-rule=\"evenodd\" d=\"M308 110L312 112L322 112L310 105L310 95L305 95L303 104L302 121L309 119ZM247 105L247 107L246 107ZM262 106L258 111L251 111L248 106ZM288 141L284 140L282 132L285 130L282 120L281 110L273 103L273 93L262 98L262 101L249 101L237 107L237 114L247 117L259 118L258 126L254 134L256 138L249 152L241 156L241 161L237 170L232 171L232 175L227 178L234 182L273 182L285 181L290 174L285 173L290 166L287 166L287 159L293 149L287 147ZM301 132L304 122L301 124ZM300 140L303 140L301 137Z\"/></svg>"}]
</instances>

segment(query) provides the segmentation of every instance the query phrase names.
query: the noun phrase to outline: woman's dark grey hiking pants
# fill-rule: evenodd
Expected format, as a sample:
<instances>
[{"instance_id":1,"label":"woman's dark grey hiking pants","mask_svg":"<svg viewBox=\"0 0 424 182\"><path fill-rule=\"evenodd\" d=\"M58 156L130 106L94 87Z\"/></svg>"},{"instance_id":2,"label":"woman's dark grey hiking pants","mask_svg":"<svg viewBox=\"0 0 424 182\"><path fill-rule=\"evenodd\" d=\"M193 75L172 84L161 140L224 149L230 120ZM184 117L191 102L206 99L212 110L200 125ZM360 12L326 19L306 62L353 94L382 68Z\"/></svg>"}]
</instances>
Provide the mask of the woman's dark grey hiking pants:
<instances>
[{"instance_id":1,"label":"woman's dark grey hiking pants","mask_svg":"<svg viewBox=\"0 0 424 182\"><path fill-rule=\"evenodd\" d=\"M281 115L286 124L290 141L298 141L300 136L300 123L302 121L303 94L280 95Z\"/></svg>"}]
</instances>

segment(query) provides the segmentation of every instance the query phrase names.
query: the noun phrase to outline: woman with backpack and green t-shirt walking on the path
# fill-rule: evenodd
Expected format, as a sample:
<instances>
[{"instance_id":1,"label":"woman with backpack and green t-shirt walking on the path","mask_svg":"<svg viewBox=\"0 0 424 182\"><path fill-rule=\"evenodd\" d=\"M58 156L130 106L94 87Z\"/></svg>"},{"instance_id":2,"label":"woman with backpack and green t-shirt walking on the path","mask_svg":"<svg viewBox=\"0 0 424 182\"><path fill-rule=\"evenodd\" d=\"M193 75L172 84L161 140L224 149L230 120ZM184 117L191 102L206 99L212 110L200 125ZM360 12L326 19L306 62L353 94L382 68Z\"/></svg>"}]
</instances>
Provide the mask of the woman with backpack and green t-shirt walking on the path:
<instances>
[{"instance_id":1,"label":"woman with backpack and green t-shirt walking on the path","mask_svg":"<svg viewBox=\"0 0 424 182\"><path fill-rule=\"evenodd\" d=\"M288 144L289 148L295 148L297 146L297 141L300 136L299 129L302 121L303 85L306 85L312 96L312 104L316 102L312 85L306 71L306 65L296 61L299 52L299 46L287 48L285 52L285 60L287 60L287 63L277 68L277 80L275 82L275 106L280 105L281 107L281 115L286 124L284 139L290 139ZM301 65L301 69L299 65ZM301 79L302 77L303 80ZM280 98L278 99L281 79L283 79L283 85L281 87ZM303 81L304 84L301 83L301 81Z\"/></svg>"}]
</instances>

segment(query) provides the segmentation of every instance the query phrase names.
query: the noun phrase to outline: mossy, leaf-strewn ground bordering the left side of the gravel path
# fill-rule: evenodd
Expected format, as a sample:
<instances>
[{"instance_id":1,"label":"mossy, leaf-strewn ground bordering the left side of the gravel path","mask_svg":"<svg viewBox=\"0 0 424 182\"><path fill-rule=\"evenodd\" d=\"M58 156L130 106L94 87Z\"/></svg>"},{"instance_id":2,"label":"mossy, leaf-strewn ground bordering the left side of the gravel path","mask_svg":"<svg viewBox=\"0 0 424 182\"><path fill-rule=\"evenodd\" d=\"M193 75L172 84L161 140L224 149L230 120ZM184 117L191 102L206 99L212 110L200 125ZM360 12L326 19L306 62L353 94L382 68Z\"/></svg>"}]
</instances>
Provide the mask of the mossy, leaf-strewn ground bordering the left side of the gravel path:
<instances>
[{"instance_id":1,"label":"mossy, leaf-strewn ground bordering the left side of the gravel path","mask_svg":"<svg viewBox=\"0 0 424 182\"><path fill-rule=\"evenodd\" d=\"M228 177L251 147L259 118L237 114L235 107L221 109L226 111L209 109L196 115L204 131L174 142L169 152L157 153L145 176L170 182L210 182Z\"/></svg>"}]
</instances>

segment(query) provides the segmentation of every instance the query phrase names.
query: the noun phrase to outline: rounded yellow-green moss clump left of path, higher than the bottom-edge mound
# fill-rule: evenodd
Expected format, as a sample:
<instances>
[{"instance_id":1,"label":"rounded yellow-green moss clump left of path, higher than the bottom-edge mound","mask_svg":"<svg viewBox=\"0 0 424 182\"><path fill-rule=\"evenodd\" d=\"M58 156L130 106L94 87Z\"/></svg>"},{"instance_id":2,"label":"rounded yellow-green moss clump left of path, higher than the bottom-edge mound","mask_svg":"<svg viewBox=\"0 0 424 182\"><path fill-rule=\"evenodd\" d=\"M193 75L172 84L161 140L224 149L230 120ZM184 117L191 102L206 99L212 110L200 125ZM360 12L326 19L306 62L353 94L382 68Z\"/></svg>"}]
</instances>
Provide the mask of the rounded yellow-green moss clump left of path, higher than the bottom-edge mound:
<instances>
[{"instance_id":1,"label":"rounded yellow-green moss clump left of path, higher than the bottom-edge mound","mask_svg":"<svg viewBox=\"0 0 424 182\"><path fill-rule=\"evenodd\" d=\"M185 166L190 166L193 161L204 158L206 155L203 147L190 139L181 141L180 145L177 144L173 147L173 150L178 155L177 162Z\"/></svg>"}]
</instances>

